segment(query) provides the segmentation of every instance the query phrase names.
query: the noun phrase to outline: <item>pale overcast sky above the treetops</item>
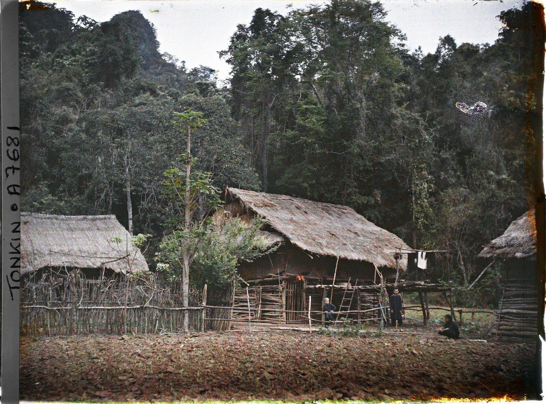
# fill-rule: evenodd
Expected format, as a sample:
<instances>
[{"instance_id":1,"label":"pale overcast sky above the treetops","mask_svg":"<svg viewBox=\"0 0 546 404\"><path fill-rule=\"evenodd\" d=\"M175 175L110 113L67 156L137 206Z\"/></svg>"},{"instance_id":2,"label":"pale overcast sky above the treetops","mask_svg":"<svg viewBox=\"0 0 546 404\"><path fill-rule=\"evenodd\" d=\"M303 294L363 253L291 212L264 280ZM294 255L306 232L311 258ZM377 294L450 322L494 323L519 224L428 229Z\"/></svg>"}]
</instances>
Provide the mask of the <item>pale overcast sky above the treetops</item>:
<instances>
[{"instance_id":1,"label":"pale overcast sky above the treetops","mask_svg":"<svg viewBox=\"0 0 546 404\"><path fill-rule=\"evenodd\" d=\"M287 14L292 9L322 0L57 0L58 7L72 11L76 17L86 15L102 22L126 10L140 10L157 30L161 52L168 52L191 69L198 65L218 71L223 80L229 65L218 57L240 23L252 19L253 10L269 8ZM382 1L390 21L407 35L411 50L421 46L425 53L434 52L438 39L452 35L457 44L484 44L497 38L501 11L520 7L515 0L386 0ZM156 11L157 10L157 11Z\"/></svg>"}]
</instances>

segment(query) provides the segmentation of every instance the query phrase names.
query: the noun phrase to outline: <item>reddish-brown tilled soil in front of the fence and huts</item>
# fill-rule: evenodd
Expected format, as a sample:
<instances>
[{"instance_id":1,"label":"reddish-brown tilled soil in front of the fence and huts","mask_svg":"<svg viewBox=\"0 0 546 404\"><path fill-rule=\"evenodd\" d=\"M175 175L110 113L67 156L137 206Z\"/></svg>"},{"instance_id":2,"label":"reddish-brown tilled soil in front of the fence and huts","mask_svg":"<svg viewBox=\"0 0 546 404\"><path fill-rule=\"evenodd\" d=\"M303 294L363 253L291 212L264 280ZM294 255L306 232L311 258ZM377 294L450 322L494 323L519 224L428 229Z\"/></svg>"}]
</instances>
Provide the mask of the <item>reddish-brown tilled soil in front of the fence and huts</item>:
<instances>
[{"instance_id":1,"label":"reddish-brown tilled soil in front of the fence and huts","mask_svg":"<svg viewBox=\"0 0 546 404\"><path fill-rule=\"evenodd\" d=\"M532 398L535 347L433 334L23 337L21 399Z\"/></svg>"}]
</instances>

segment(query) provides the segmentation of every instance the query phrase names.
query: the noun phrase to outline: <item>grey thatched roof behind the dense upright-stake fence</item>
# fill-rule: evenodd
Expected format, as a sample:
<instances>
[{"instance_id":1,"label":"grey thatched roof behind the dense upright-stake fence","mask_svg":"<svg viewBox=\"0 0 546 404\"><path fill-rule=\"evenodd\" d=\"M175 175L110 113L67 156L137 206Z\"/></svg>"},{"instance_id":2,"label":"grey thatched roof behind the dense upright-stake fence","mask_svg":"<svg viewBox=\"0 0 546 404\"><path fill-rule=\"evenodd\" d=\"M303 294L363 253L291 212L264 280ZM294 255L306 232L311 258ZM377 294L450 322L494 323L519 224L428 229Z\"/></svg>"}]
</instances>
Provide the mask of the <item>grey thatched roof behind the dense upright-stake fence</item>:
<instances>
[{"instance_id":1,"label":"grey thatched roof behind the dense upright-stake fence","mask_svg":"<svg viewBox=\"0 0 546 404\"><path fill-rule=\"evenodd\" d=\"M112 243L120 237L122 243ZM126 255L127 258L119 259ZM126 274L148 270L140 250L114 215L21 213L21 273L43 267L106 268Z\"/></svg>"}]
</instances>

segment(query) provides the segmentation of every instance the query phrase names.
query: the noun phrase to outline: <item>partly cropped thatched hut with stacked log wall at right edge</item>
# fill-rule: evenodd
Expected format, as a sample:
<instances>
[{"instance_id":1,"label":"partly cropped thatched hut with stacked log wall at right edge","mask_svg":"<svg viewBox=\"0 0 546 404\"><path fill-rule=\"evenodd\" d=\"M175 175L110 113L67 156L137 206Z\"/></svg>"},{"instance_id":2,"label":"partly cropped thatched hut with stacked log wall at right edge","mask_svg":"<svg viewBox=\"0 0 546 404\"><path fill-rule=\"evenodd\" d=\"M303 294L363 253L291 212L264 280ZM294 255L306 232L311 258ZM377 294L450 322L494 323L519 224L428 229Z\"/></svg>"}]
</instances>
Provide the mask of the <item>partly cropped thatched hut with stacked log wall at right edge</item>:
<instances>
[{"instance_id":1,"label":"partly cropped thatched hut with stacked log wall at right edge","mask_svg":"<svg viewBox=\"0 0 546 404\"><path fill-rule=\"evenodd\" d=\"M535 210L514 220L506 231L479 253L501 262L502 297L496 334L501 337L536 337L537 334L537 229Z\"/></svg>"}]
</instances>

